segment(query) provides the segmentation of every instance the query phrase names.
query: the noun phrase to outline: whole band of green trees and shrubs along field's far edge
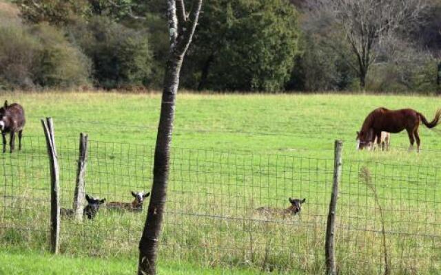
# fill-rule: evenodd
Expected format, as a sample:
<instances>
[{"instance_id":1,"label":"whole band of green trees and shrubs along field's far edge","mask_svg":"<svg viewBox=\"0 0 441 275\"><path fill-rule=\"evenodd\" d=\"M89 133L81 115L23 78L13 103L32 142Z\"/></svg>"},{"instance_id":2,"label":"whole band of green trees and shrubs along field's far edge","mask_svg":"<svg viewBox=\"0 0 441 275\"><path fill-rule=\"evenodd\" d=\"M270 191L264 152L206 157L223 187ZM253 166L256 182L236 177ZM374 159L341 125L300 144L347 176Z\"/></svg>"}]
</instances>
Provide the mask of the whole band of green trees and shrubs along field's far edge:
<instances>
[{"instance_id":1,"label":"whole band of green trees and shrubs along field's far edge","mask_svg":"<svg viewBox=\"0 0 441 275\"><path fill-rule=\"evenodd\" d=\"M169 47L164 1L13 2L17 5L0 1L2 27L14 28L2 30L0 40L27 36L17 43L49 47L45 50L45 58L49 60L43 68L38 68L40 63L34 53L39 51L32 45L26 46L30 51L22 54L3 50L0 56L3 89L72 87L83 85L85 79L105 89L162 87ZM335 14L326 5L317 8L320 7L317 2L205 1L181 72L181 87L271 92L357 90L360 77L351 46L334 20ZM398 28L381 45L373 45L377 58L369 66L367 90L419 93L441 90L436 83L436 67L441 62L441 4L433 0L428 3L420 21ZM25 26L20 23L17 10ZM18 28L15 23L10 27L12 21L25 30L15 30ZM32 25L42 23L53 26L45 27L44 32L54 33L57 29L59 39L54 43L59 45L44 43L45 38L38 37L41 32L29 34L34 29ZM23 49L23 45L17 48ZM54 51L61 48L68 50L61 54L61 59L54 60ZM75 56L77 64L67 61L67 56ZM69 64L68 76L73 79L68 83L53 76L59 69L50 68L62 59ZM79 69L81 66L83 69ZM34 76L35 72L50 72L51 76Z\"/></svg>"}]
</instances>

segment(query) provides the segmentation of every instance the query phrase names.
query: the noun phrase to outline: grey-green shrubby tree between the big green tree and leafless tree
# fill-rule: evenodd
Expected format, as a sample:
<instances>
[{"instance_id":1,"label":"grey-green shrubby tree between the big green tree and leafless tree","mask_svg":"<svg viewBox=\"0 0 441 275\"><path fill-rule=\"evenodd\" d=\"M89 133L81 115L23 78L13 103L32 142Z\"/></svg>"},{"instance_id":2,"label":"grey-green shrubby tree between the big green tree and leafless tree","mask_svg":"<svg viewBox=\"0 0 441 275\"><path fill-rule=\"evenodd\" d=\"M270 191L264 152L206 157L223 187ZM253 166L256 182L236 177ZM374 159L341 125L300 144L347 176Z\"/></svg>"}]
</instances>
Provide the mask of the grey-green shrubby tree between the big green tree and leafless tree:
<instances>
[{"instance_id":1,"label":"grey-green shrubby tree between the big green tree and leafless tree","mask_svg":"<svg viewBox=\"0 0 441 275\"><path fill-rule=\"evenodd\" d=\"M351 49L336 28L329 9L302 2L300 54L286 89L298 91L341 91L351 89L356 74Z\"/></svg>"}]
</instances>

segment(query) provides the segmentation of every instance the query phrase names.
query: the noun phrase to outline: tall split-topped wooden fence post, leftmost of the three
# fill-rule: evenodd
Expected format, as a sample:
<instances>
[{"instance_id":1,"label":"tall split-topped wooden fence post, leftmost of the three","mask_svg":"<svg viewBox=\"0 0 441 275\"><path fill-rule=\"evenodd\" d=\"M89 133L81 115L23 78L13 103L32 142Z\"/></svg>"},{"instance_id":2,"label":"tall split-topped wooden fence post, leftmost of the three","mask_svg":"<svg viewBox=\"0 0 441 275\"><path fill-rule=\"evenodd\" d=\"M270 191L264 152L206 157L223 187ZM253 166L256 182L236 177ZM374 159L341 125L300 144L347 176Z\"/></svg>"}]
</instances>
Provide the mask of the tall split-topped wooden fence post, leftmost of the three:
<instances>
[{"instance_id":1,"label":"tall split-topped wooden fence post, leftmost of the three","mask_svg":"<svg viewBox=\"0 0 441 275\"><path fill-rule=\"evenodd\" d=\"M60 236L60 198L59 198L59 166L57 148L55 148L54 124L52 118L41 120L50 164L50 252L59 252Z\"/></svg>"}]
</instances>

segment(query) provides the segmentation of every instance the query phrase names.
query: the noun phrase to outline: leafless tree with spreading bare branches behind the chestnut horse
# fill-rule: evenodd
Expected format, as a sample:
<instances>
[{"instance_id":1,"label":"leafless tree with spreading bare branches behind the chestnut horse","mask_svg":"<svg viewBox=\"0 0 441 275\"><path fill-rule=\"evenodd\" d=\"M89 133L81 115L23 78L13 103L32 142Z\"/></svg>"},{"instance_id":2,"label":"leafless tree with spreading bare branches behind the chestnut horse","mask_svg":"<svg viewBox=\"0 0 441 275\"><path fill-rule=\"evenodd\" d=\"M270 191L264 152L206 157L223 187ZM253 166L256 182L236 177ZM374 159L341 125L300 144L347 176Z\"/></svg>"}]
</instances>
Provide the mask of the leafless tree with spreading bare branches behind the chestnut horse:
<instances>
[{"instance_id":1,"label":"leafless tree with spreading bare branches behind the chestnut horse","mask_svg":"<svg viewBox=\"0 0 441 275\"><path fill-rule=\"evenodd\" d=\"M420 20L424 0L325 0L322 8L334 12L339 30L351 45L356 64L351 65L365 88L369 66L376 61L379 47L390 34Z\"/></svg>"}]
</instances>

